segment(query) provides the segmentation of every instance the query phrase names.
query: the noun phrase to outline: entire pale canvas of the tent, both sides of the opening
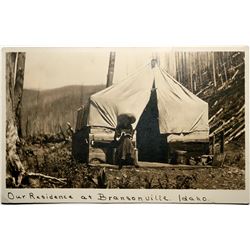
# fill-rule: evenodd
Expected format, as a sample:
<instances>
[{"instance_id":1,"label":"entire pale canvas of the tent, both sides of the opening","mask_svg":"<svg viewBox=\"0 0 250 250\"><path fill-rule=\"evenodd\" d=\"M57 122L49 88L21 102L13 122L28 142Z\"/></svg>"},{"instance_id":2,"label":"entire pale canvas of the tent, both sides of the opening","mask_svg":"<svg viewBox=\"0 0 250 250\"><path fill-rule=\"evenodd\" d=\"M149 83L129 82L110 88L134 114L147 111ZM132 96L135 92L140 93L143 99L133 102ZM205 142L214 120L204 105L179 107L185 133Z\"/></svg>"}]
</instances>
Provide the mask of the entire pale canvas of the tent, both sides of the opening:
<instances>
[{"instance_id":1,"label":"entire pale canvas of the tent, both sides of the opening","mask_svg":"<svg viewBox=\"0 0 250 250\"><path fill-rule=\"evenodd\" d=\"M160 134L171 135L168 140L208 140L208 104L157 64L92 95L85 125L115 129L119 115L133 113L136 129L152 91L156 91Z\"/></svg>"}]
</instances>

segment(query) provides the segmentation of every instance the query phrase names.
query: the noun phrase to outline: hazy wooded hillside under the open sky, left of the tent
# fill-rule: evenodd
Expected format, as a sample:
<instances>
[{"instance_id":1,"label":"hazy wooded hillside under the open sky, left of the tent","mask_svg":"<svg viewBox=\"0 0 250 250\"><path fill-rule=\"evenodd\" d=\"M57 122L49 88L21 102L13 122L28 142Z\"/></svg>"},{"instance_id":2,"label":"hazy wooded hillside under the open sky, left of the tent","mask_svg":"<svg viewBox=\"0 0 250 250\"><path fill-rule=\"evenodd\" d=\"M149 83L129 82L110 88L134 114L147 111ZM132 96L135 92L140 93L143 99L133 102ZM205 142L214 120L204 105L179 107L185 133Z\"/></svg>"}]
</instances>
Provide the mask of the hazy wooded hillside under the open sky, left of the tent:
<instances>
[{"instance_id":1,"label":"hazy wooded hillside under the open sky, left of the tent","mask_svg":"<svg viewBox=\"0 0 250 250\"><path fill-rule=\"evenodd\" d=\"M56 134L60 132L60 126L64 128L67 122L74 127L76 110L86 104L91 94L103 88L102 85L72 85L42 91L24 89L23 134Z\"/></svg>"}]
</instances>

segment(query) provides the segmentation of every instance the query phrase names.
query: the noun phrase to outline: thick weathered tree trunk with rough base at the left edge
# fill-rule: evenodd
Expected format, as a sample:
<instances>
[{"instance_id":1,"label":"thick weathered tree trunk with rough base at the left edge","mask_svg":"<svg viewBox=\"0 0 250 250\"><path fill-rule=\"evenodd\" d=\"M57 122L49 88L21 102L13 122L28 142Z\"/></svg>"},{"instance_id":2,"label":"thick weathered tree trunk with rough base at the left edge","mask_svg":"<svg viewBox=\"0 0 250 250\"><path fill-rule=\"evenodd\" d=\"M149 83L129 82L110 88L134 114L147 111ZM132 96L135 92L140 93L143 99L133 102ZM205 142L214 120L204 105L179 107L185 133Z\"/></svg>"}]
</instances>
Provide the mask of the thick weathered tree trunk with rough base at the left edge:
<instances>
[{"instance_id":1,"label":"thick weathered tree trunk with rough base at the left edge","mask_svg":"<svg viewBox=\"0 0 250 250\"><path fill-rule=\"evenodd\" d=\"M7 176L19 186L25 173L17 152L21 132L21 100L23 93L25 53L6 53L6 162Z\"/></svg>"}]
</instances>

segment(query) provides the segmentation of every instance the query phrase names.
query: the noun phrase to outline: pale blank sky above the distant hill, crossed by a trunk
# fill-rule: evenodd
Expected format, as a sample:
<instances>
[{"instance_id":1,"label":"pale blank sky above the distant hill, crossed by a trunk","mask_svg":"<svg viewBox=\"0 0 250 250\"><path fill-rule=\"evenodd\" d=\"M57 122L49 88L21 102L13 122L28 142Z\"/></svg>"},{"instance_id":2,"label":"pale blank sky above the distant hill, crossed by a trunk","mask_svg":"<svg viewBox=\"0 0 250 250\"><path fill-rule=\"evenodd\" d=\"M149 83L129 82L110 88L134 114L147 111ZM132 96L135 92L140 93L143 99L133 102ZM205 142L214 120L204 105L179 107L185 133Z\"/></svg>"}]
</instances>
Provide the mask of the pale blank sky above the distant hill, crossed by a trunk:
<instances>
[{"instance_id":1,"label":"pale blank sky above the distant hill, crossed by a trunk","mask_svg":"<svg viewBox=\"0 0 250 250\"><path fill-rule=\"evenodd\" d=\"M116 51L114 83L150 63L153 56L151 49L27 49L24 88L106 84L110 51Z\"/></svg>"}]
</instances>

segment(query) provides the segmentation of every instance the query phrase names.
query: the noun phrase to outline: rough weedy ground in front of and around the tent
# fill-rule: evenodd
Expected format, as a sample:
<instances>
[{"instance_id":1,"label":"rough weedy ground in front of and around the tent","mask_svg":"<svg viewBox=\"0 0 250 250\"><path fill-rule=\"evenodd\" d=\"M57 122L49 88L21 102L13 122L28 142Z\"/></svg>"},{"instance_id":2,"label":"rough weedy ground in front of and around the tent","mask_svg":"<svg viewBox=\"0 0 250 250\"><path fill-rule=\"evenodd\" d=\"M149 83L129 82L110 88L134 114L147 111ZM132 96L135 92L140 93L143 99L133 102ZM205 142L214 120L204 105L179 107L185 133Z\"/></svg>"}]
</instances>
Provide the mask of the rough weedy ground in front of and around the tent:
<instances>
[{"instance_id":1,"label":"rough weedy ground in front of and around the tent","mask_svg":"<svg viewBox=\"0 0 250 250\"><path fill-rule=\"evenodd\" d=\"M43 177L24 178L26 188L154 188L154 189L244 189L245 155L243 142L225 147L225 159L217 166L139 167L87 166L71 157L71 143L27 143L22 146L22 162L28 172L41 173L62 182ZM8 184L7 184L8 186Z\"/></svg>"}]
</instances>

